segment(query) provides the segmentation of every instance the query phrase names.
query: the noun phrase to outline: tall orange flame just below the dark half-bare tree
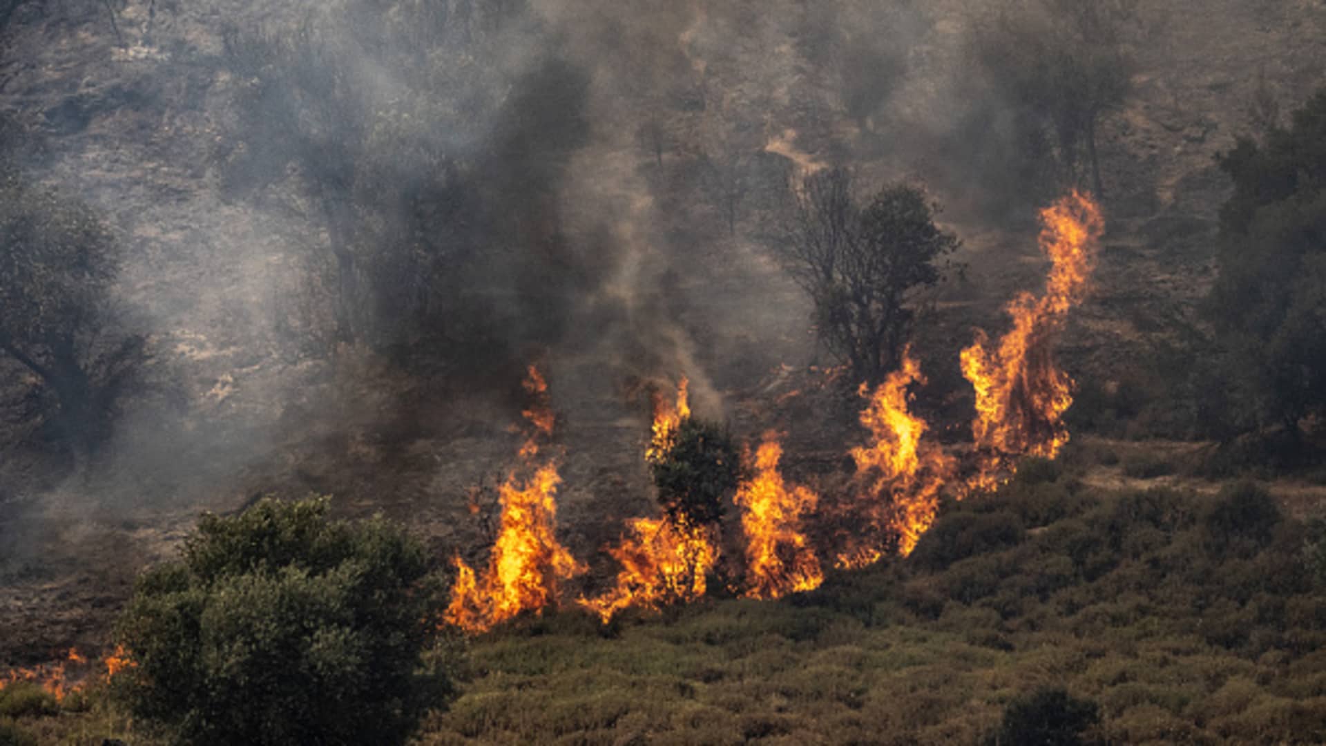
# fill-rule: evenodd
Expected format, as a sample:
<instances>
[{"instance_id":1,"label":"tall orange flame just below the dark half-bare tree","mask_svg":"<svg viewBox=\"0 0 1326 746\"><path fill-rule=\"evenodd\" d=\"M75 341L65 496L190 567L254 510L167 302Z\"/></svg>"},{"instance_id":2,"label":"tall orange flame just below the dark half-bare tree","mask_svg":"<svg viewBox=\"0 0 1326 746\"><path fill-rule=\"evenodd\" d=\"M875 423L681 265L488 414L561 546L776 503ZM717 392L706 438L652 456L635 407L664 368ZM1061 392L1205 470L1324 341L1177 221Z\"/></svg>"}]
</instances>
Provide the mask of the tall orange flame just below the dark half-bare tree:
<instances>
[{"instance_id":1,"label":"tall orange flame just below the dark half-bare tree","mask_svg":"<svg viewBox=\"0 0 1326 746\"><path fill-rule=\"evenodd\" d=\"M896 535L903 556L911 554L935 522L940 490L955 470L953 458L939 443L924 439L930 429L926 421L910 411L907 389L924 382L920 364L911 349L904 349L902 366L874 393L862 384L859 394L869 404L861 413L861 423L870 430L873 442L851 450L857 477L865 482L866 518L873 527ZM886 495L891 496L887 503ZM838 556L837 565L859 568L883 556L878 546L862 544L863 540L857 536Z\"/></svg>"}]
</instances>

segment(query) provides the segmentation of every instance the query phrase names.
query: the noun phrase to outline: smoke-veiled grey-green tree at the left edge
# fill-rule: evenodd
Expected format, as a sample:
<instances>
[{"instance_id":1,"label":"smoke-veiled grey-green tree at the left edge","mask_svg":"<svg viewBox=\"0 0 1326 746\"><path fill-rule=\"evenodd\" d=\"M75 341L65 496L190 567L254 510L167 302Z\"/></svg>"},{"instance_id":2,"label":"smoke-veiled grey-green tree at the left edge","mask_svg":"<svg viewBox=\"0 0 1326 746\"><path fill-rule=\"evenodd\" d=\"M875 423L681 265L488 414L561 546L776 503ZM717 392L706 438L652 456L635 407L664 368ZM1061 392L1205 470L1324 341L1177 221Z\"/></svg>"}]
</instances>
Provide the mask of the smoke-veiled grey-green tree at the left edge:
<instances>
[{"instance_id":1,"label":"smoke-veiled grey-green tree at the left edge","mask_svg":"<svg viewBox=\"0 0 1326 746\"><path fill-rule=\"evenodd\" d=\"M105 434L143 360L143 338L115 329L118 271L118 244L95 211L0 163L0 354L56 394L60 434L80 449Z\"/></svg>"}]
</instances>

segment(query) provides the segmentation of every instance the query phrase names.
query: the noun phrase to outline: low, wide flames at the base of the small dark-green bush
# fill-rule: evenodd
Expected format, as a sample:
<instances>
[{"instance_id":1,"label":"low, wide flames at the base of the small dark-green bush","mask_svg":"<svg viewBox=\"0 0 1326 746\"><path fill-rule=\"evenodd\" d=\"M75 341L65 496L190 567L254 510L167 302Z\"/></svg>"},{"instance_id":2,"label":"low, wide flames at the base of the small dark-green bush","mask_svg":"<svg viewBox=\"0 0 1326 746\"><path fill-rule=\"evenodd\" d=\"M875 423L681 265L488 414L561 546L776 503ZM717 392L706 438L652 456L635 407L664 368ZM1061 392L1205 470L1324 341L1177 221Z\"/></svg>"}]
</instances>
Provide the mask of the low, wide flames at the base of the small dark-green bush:
<instances>
[{"instance_id":1,"label":"low, wide flames at the base of the small dark-green bush","mask_svg":"<svg viewBox=\"0 0 1326 746\"><path fill-rule=\"evenodd\" d=\"M693 601L708 591L708 573L719 560L713 530L667 518L627 522L627 535L609 554L621 563L606 593L578 600L603 624L630 607L658 611L664 604Z\"/></svg>"}]
</instances>

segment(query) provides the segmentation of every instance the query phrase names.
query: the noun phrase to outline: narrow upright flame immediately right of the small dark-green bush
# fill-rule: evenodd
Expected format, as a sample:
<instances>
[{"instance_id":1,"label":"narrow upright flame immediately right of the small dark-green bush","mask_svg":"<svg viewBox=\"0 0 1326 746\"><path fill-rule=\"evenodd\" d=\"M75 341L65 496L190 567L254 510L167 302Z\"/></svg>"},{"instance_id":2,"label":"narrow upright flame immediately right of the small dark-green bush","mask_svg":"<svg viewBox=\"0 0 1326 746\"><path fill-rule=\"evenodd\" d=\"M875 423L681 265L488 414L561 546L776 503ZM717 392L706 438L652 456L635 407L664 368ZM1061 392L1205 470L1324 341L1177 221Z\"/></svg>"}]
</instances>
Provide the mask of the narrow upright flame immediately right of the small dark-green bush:
<instances>
[{"instance_id":1,"label":"narrow upright flame immediately right of the small dark-green bush","mask_svg":"<svg viewBox=\"0 0 1326 746\"><path fill-rule=\"evenodd\" d=\"M766 434L756 453L756 474L741 485L735 502L745 508L741 528L747 536L747 596L778 599L813 591L823 583L819 559L802 534L802 516L819 496L801 486L784 483L778 473L782 445Z\"/></svg>"}]
</instances>

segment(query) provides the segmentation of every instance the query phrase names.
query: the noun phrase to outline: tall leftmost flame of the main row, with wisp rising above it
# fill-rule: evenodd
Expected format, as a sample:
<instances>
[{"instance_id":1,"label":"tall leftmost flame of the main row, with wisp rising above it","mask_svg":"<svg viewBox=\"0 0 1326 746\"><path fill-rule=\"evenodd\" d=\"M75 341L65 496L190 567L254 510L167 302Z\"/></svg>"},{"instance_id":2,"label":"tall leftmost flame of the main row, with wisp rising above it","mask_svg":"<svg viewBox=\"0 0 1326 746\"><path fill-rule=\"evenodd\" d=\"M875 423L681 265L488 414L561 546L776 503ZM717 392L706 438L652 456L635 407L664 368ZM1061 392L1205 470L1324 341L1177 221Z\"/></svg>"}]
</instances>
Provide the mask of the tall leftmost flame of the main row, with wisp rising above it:
<instances>
[{"instance_id":1,"label":"tall leftmost flame of the main row, with wisp rising above it","mask_svg":"<svg viewBox=\"0 0 1326 746\"><path fill-rule=\"evenodd\" d=\"M548 406L548 384L529 368L525 390L536 402L524 414L534 431L520 449L528 463L538 454L538 435L552 433L554 417ZM521 482L512 471L499 488L501 523L481 577L456 556L456 581L443 617L465 632L485 632L525 611L541 613L556 603L561 584L583 572L556 536L557 487L561 477L552 462L534 469Z\"/></svg>"}]
</instances>

